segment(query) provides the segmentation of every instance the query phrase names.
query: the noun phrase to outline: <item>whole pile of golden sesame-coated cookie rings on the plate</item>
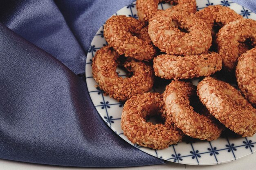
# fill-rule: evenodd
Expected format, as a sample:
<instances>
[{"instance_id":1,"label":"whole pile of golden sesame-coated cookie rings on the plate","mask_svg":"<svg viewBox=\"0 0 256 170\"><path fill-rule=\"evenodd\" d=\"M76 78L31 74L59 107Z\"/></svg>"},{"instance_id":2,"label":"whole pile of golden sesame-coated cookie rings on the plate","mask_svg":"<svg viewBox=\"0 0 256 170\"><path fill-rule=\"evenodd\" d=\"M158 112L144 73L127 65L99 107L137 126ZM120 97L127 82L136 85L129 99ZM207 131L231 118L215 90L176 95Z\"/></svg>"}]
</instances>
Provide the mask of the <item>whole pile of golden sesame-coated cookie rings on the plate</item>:
<instances>
[{"instance_id":1,"label":"whole pile of golden sesame-coated cookie rings on the plate","mask_svg":"<svg viewBox=\"0 0 256 170\"><path fill-rule=\"evenodd\" d=\"M229 128L256 133L256 21L228 7L196 11L195 0L137 0L139 20L112 16L104 26L108 46L93 57L92 73L110 97L125 102L121 128L132 143L164 149L187 135L215 140ZM216 29L217 28L217 29ZM130 77L119 77L117 67ZM236 75L240 91L210 77ZM155 76L172 80L163 94L150 93ZM204 77L198 86L189 79ZM199 113L191 106L198 99ZM146 119L158 115L163 123Z\"/></svg>"}]
</instances>

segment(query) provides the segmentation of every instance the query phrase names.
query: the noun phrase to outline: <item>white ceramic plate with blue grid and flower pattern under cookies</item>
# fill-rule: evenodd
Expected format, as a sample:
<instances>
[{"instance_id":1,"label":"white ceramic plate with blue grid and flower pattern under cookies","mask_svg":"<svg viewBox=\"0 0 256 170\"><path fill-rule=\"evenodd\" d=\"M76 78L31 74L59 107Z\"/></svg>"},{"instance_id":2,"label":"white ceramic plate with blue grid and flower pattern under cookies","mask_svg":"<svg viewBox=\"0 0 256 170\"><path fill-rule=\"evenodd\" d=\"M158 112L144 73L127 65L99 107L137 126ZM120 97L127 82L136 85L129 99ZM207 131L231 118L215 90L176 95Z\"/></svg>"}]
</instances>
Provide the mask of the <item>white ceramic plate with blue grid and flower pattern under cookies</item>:
<instances>
[{"instance_id":1,"label":"white ceramic plate with blue grid and flower pattern under cookies","mask_svg":"<svg viewBox=\"0 0 256 170\"><path fill-rule=\"evenodd\" d=\"M234 9L240 15L245 18L252 18L256 20L256 14L252 11L233 3L229 0L197 0L198 10L203 9L209 5L221 4ZM168 3L159 4L159 9L167 9L170 5ZM137 10L135 2L117 11L114 15L127 15L134 18L137 17ZM121 138L126 140L129 144L142 150L155 157L190 165L213 165L218 163L226 163L234 161L236 159L245 157L256 151L256 135L253 137L221 137L216 141L190 141L190 142L180 142L176 145L172 145L164 150L153 150L150 148L145 148L138 146L137 144L132 144L126 136L123 135L121 130L121 113L123 104L117 102L115 99L109 96L104 96L99 88L96 88L97 83L92 77L92 57L94 57L97 50L107 44L103 37L103 26L99 29L94 39L92 40L88 55L86 58L85 75L86 82L88 86L88 91L92 102L97 109L98 113L101 115L102 119L106 121L108 126L117 133ZM122 70L119 76L125 77L126 73ZM161 84L155 84L154 90L157 92L162 92L160 89L165 86Z\"/></svg>"}]
</instances>

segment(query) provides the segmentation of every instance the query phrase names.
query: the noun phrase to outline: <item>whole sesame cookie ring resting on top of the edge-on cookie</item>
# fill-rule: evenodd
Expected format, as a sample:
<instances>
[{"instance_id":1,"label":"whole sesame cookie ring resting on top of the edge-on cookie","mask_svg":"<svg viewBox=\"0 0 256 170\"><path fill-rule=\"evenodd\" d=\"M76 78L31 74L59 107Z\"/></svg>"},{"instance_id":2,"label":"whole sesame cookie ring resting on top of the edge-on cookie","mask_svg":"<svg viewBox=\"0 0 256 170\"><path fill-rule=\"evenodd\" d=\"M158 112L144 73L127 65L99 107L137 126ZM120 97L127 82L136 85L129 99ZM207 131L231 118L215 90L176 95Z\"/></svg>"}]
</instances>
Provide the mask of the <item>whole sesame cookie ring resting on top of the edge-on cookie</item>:
<instances>
[{"instance_id":1,"label":"whole sesame cookie ring resting on top of the edge-on cookie","mask_svg":"<svg viewBox=\"0 0 256 170\"><path fill-rule=\"evenodd\" d=\"M155 46L170 55L199 55L208 51L212 42L211 31L195 14L170 9L157 11L149 21L148 34Z\"/></svg>"}]
</instances>

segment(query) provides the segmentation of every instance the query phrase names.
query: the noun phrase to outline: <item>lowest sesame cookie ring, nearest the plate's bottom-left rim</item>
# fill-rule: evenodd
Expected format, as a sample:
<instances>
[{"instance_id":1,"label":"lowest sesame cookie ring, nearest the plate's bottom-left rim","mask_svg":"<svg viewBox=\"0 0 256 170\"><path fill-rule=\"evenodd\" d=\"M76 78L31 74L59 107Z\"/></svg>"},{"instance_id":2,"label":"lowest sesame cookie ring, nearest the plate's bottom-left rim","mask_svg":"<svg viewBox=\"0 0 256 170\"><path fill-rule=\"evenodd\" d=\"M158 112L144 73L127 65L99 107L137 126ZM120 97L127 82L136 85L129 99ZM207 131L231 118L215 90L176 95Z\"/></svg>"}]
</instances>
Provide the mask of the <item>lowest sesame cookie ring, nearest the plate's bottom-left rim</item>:
<instances>
[{"instance_id":1,"label":"lowest sesame cookie ring, nearest the plate's bottom-left rim","mask_svg":"<svg viewBox=\"0 0 256 170\"><path fill-rule=\"evenodd\" d=\"M146 118L158 114L165 119L164 102L159 93L144 93L133 96L124 104L121 128L133 144L153 149L168 148L181 141L183 133L171 122L152 124Z\"/></svg>"}]
</instances>

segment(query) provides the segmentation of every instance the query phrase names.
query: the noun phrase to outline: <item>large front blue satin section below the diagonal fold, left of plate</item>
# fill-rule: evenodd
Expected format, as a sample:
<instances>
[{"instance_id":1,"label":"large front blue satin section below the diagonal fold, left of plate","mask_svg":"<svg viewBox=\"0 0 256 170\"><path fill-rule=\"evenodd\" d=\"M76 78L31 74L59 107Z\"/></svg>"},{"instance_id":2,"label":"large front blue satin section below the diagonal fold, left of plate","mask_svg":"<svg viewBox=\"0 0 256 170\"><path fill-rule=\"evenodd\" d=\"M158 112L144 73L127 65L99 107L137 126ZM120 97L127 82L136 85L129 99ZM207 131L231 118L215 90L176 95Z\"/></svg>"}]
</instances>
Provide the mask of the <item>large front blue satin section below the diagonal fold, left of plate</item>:
<instances>
[{"instance_id":1,"label":"large front blue satin section below the diagonal fold, left of plate","mask_svg":"<svg viewBox=\"0 0 256 170\"><path fill-rule=\"evenodd\" d=\"M0 158L63 166L163 163L117 136L83 77L0 24Z\"/></svg>"}]
</instances>

